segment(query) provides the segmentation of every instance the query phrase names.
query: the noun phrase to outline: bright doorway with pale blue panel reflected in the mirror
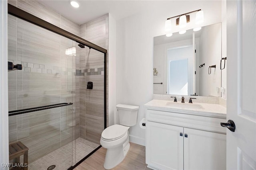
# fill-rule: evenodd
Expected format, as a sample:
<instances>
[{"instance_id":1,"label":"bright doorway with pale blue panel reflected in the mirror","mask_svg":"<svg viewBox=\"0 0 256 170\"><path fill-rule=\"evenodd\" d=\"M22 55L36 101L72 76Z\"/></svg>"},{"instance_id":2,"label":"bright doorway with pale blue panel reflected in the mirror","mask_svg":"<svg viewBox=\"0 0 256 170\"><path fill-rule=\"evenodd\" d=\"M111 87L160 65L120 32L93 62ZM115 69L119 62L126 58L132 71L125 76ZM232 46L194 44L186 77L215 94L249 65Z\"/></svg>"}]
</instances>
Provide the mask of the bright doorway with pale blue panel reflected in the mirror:
<instances>
[{"instance_id":1,"label":"bright doorway with pale blue panel reflected in the mirror","mask_svg":"<svg viewBox=\"0 0 256 170\"><path fill-rule=\"evenodd\" d=\"M193 93L193 46L168 49L168 94L190 95Z\"/></svg>"}]
</instances>

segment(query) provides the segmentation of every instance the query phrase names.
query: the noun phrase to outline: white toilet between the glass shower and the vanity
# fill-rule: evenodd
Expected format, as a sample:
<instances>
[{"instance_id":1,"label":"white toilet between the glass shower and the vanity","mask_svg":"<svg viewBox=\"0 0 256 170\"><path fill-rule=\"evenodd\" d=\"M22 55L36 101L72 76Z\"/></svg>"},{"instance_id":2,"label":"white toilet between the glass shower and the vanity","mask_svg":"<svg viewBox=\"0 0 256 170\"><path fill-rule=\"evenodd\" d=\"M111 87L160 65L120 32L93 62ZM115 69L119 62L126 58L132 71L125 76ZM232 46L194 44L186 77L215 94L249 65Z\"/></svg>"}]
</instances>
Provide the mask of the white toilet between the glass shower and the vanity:
<instances>
[{"instance_id":1,"label":"white toilet between the glass shower and the vanity","mask_svg":"<svg viewBox=\"0 0 256 170\"><path fill-rule=\"evenodd\" d=\"M100 144L107 149L104 168L111 169L124 160L130 148L129 131L136 125L139 106L116 105L120 125L107 127L101 134Z\"/></svg>"}]
</instances>

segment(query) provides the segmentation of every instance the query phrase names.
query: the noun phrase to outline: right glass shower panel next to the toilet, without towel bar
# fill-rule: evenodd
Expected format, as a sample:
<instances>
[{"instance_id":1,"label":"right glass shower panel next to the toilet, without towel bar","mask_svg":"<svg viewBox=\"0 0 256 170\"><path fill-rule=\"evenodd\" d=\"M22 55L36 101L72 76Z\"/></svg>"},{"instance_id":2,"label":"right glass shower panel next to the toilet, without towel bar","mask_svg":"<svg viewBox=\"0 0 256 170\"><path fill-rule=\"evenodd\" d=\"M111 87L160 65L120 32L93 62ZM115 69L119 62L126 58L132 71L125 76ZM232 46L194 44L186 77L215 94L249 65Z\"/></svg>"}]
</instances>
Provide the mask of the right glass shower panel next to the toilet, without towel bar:
<instances>
[{"instance_id":1,"label":"right glass shower panel next to the toilet, without towel bar","mask_svg":"<svg viewBox=\"0 0 256 170\"><path fill-rule=\"evenodd\" d=\"M87 29L87 35L90 31L93 30ZM90 37L88 41L91 41ZM76 105L79 106L79 134L76 136L76 163L100 146L100 137L104 130L104 53L89 47L79 47L79 61L80 74L77 78L80 86L77 90L80 98Z\"/></svg>"}]
</instances>

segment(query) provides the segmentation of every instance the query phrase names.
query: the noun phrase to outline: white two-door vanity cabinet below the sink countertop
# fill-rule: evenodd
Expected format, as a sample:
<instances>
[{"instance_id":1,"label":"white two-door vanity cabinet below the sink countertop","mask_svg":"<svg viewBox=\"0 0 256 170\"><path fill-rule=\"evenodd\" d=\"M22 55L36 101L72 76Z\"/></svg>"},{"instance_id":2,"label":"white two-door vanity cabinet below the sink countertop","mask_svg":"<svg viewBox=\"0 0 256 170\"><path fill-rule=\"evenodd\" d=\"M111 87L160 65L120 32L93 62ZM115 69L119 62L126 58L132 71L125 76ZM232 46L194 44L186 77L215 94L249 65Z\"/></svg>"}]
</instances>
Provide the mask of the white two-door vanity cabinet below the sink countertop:
<instances>
[{"instance_id":1,"label":"white two-door vanity cabinet below the sink countertop","mask_svg":"<svg viewBox=\"0 0 256 170\"><path fill-rule=\"evenodd\" d=\"M146 164L155 170L225 170L225 121L146 109Z\"/></svg>"}]
</instances>

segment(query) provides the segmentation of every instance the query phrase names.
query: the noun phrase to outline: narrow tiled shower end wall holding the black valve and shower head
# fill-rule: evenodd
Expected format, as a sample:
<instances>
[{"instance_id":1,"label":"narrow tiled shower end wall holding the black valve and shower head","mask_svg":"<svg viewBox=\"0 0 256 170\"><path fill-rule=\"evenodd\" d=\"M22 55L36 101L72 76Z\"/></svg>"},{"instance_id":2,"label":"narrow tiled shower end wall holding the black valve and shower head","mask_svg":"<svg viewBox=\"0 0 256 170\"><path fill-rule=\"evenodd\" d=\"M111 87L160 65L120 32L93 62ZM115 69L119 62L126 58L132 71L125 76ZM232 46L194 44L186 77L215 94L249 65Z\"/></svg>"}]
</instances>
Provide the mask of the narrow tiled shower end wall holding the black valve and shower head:
<instances>
[{"instance_id":1,"label":"narrow tiled shower end wall holding the black valve and shower head","mask_svg":"<svg viewBox=\"0 0 256 170\"><path fill-rule=\"evenodd\" d=\"M80 25L80 37L108 50L108 14ZM80 137L100 144L104 130L104 54L88 47L80 49L80 71ZM93 82L93 89L86 89L87 82Z\"/></svg>"}]
</instances>

